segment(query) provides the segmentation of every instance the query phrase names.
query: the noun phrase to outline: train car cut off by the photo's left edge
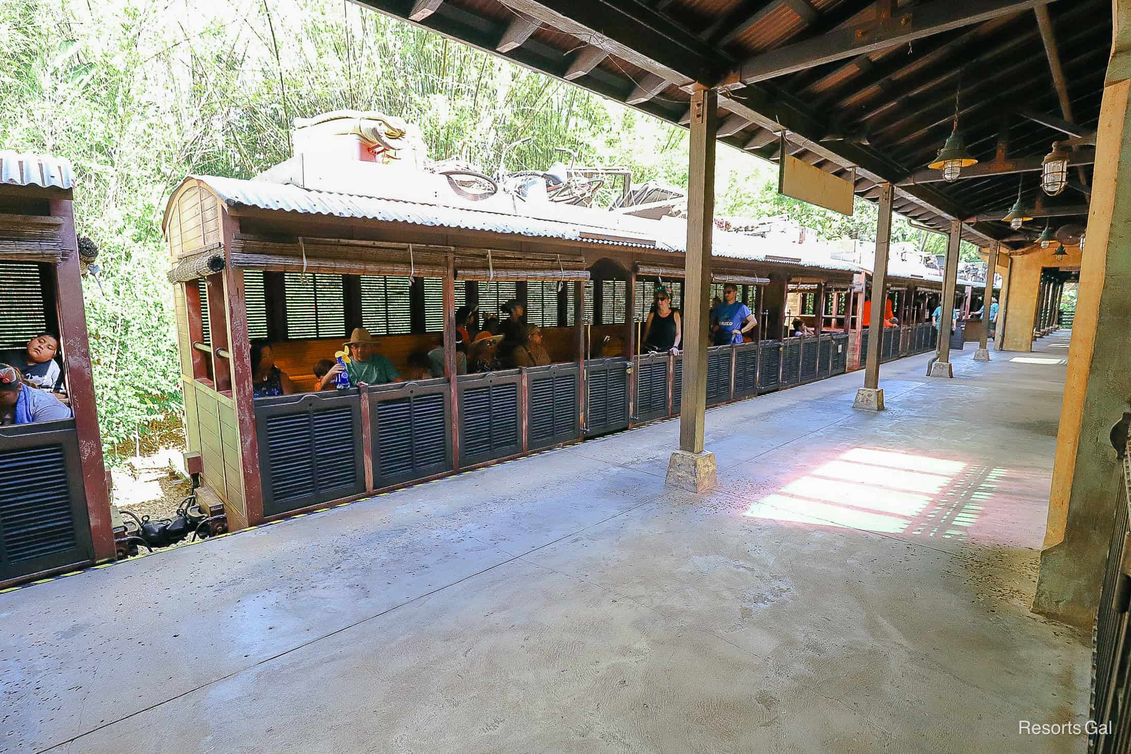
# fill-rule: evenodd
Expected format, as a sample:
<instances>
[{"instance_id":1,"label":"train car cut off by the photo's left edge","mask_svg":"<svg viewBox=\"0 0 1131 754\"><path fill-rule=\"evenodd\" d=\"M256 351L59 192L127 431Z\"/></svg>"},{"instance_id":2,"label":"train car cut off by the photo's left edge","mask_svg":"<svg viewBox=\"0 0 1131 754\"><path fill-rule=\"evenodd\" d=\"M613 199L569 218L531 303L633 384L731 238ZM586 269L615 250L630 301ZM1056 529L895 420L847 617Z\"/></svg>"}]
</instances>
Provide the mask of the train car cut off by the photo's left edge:
<instances>
[{"instance_id":1,"label":"train car cut off by the photo's left edge","mask_svg":"<svg viewBox=\"0 0 1131 754\"><path fill-rule=\"evenodd\" d=\"M16 410L0 425L0 591L115 557L74 183L66 159L0 151L0 361L25 370L29 341L54 336L59 376L44 388L72 414L21 421Z\"/></svg>"}]
</instances>

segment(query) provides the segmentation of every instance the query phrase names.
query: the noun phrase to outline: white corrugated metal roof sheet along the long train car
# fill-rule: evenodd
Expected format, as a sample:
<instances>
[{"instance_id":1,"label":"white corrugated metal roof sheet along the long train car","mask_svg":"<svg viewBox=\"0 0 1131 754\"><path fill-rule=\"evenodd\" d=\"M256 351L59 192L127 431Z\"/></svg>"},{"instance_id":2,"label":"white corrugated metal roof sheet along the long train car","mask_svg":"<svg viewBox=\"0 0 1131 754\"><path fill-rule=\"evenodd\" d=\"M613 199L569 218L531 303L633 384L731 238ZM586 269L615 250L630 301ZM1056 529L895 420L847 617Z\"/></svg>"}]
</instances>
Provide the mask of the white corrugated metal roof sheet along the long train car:
<instances>
[{"instance_id":1,"label":"white corrugated metal roof sheet along the long train car","mask_svg":"<svg viewBox=\"0 0 1131 754\"><path fill-rule=\"evenodd\" d=\"M647 220L655 223L651 239L655 244L639 243L633 240L611 241L607 239L587 237L585 234L615 235L618 216L610 213L607 226L584 225L561 220L543 219L526 215L509 215L502 213L467 209L464 207L447 207L442 205L425 205L397 199L380 199L355 194L314 191L287 183L270 183L267 181L247 181L241 179L219 177L215 175L193 175L191 179L207 184L227 205L242 205L277 211L301 213L304 215L328 215L333 217L351 217L372 219L383 223L407 223L437 228L461 228L466 231L484 231L523 235L528 237L560 239L586 244L631 246L637 249L656 249L658 251L683 252L687 237L683 223L680 220ZM639 240L640 222L638 220L628 234ZM768 249L768 245L774 248ZM780 262L813 269L857 272L860 269L839 260L819 259L802 254L793 246L778 249L763 239L757 239L739 233L726 233L716 228L714 236L714 255L728 259L741 259L756 262ZM772 257L778 257L772 259Z\"/></svg>"}]
</instances>

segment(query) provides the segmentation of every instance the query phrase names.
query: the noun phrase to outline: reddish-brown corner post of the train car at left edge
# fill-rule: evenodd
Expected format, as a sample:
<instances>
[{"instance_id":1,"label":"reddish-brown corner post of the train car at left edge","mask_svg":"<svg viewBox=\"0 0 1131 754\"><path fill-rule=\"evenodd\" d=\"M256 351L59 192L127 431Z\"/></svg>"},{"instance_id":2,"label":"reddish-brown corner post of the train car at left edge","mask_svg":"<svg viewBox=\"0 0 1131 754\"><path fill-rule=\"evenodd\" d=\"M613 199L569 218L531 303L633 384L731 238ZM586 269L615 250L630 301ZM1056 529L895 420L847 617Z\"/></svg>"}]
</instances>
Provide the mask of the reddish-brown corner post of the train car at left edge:
<instances>
[{"instance_id":1,"label":"reddish-brown corner post of the train car at left edge","mask_svg":"<svg viewBox=\"0 0 1131 754\"><path fill-rule=\"evenodd\" d=\"M68 192L69 196L69 192ZM98 432L98 411L95 405L94 372L90 366L90 341L83 304L83 276L78 263L78 240L75 236L74 205L68 199L50 199L49 211L62 218L62 260L55 266L57 311L59 339L67 358L67 389L70 395L75 430L78 434L78 456L83 467L83 491L86 493L86 512L90 521L90 541L94 560L114 560L113 525L110 520L110 495L106 489L106 468L102 458L102 435Z\"/></svg>"}]
</instances>

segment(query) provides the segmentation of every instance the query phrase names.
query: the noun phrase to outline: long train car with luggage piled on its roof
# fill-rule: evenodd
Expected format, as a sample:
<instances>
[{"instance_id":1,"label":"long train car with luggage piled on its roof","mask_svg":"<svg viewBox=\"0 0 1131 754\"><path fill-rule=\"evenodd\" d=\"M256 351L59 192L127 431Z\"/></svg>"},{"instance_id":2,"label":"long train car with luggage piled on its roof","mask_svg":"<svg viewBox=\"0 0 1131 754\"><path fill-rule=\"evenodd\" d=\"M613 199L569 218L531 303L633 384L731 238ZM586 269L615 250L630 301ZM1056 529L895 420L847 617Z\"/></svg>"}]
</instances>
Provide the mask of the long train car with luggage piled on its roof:
<instances>
[{"instance_id":1,"label":"long train car with luggage piled on its roof","mask_svg":"<svg viewBox=\"0 0 1131 754\"><path fill-rule=\"evenodd\" d=\"M641 341L657 286L681 305L682 224L468 198L340 131L296 133L257 180L189 176L166 207L189 466L230 529L679 414L681 355ZM713 295L734 284L758 328L709 349L708 405L862 364L858 266L720 232L714 254ZM914 317L886 330L884 359L934 347L941 281L904 283L893 303ZM475 309L474 336L489 317L506 329L511 301L550 363L497 367L457 343L457 310ZM794 318L814 335L785 337ZM318 363L347 341L377 366L334 389Z\"/></svg>"}]
</instances>

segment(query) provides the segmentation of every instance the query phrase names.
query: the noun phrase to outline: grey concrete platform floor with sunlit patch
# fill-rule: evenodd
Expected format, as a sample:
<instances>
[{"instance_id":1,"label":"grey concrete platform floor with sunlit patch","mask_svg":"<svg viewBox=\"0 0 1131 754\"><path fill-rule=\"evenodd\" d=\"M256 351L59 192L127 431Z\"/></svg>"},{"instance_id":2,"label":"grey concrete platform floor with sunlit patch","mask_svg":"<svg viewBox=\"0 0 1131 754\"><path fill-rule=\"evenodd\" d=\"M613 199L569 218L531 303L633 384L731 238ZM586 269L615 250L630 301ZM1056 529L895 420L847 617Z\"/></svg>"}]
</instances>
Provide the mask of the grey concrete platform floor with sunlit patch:
<instances>
[{"instance_id":1,"label":"grey concrete platform floor with sunlit patch","mask_svg":"<svg viewBox=\"0 0 1131 754\"><path fill-rule=\"evenodd\" d=\"M667 422L2 595L0 751L1082 752L1065 345L711 410L702 496Z\"/></svg>"}]
</instances>

